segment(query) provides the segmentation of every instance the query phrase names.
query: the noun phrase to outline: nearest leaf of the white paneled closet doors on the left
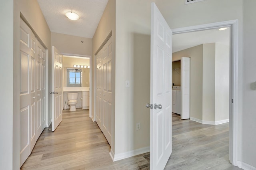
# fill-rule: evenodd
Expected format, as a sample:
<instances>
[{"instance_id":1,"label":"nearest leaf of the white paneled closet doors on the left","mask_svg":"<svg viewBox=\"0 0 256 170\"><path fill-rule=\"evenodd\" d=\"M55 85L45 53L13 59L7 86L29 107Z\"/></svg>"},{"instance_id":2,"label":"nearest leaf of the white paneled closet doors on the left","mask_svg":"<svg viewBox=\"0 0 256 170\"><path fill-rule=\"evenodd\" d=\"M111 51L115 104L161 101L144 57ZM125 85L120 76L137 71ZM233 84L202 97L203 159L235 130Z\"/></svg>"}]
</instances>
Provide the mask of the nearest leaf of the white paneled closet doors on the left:
<instances>
[{"instance_id":1,"label":"nearest leaf of the white paneled closet doors on the left","mask_svg":"<svg viewBox=\"0 0 256 170\"><path fill-rule=\"evenodd\" d=\"M35 110L35 104L30 105L31 60L30 28L20 19L20 166L30 154L30 114Z\"/></svg>"}]
</instances>

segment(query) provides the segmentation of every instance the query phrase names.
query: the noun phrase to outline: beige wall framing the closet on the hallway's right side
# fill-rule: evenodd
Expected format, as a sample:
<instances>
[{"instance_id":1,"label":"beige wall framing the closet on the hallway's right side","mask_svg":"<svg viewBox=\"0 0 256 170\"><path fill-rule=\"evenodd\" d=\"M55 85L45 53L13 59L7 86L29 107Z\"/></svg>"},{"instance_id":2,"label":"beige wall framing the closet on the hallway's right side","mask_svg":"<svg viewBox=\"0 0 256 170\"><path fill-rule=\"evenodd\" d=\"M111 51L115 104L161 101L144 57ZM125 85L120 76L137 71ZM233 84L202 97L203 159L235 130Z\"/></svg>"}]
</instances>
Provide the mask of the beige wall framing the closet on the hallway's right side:
<instances>
[{"instance_id":1,"label":"beige wall framing the closet on the hallway's right side","mask_svg":"<svg viewBox=\"0 0 256 170\"><path fill-rule=\"evenodd\" d=\"M92 113L94 113L94 95L96 94L96 89L94 89L96 79L96 65L95 55L104 40L108 37L108 35L112 32L112 82L111 89L115 89L115 65L116 65L116 0L108 0L108 4L102 14L102 18L98 24L98 27L95 31L95 34L92 38ZM115 90L112 90L112 107L115 108ZM94 119L94 115L92 114L92 119ZM112 151L115 149L115 141L114 141L114 131L115 131L115 109L112 109Z\"/></svg>"}]
</instances>

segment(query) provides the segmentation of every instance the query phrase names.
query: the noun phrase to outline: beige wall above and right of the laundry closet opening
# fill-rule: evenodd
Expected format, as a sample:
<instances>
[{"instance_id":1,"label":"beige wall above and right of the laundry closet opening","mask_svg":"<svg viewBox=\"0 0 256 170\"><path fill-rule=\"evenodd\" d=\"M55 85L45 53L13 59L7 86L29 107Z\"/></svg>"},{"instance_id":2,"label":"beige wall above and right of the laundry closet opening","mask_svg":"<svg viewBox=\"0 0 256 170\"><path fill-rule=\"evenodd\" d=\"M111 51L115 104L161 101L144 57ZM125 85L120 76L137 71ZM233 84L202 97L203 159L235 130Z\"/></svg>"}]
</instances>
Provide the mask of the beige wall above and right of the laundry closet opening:
<instances>
[{"instance_id":1,"label":"beige wall above and right of the laundry closet opening","mask_svg":"<svg viewBox=\"0 0 256 170\"><path fill-rule=\"evenodd\" d=\"M172 60L190 57L190 117L202 120L203 45L172 53Z\"/></svg>"}]
</instances>

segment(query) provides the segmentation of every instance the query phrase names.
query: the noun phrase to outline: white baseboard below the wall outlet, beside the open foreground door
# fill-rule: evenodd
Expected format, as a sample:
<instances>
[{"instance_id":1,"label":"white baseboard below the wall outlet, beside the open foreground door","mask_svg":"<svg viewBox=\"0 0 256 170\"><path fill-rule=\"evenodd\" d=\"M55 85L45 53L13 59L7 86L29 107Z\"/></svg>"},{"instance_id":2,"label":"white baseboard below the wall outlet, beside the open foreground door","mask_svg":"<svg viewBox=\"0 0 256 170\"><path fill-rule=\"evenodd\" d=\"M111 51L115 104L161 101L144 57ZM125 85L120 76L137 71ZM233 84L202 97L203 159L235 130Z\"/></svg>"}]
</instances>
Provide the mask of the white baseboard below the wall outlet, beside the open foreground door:
<instances>
[{"instance_id":1,"label":"white baseboard below the wall outlet, beside the open foreground door","mask_svg":"<svg viewBox=\"0 0 256 170\"><path fill-rule=\"evenodd\" d=\"M124 153L120 153L120 154L114 154L114 152L112 150L110 150L109 154L114 162L117 160L129 158L129 157L136 156L139 154L144 154L147 152L150 152L150 147L139 148L139 149L131 150L129 152L124 152Z\"/></svg>"}]
</instances>

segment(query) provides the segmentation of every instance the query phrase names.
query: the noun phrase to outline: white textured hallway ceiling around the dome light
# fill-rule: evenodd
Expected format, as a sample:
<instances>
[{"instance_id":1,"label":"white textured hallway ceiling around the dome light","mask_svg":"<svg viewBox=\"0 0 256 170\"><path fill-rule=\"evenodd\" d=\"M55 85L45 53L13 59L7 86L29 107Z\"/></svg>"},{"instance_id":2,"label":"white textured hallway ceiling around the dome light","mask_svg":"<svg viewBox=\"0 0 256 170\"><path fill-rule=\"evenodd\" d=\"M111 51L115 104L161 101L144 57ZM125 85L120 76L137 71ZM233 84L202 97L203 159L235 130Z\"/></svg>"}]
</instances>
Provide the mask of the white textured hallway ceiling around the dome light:
<instances>
[{"instance_id":1,"label":"white textured hallway ceiling around the dome light","mask_svg":"<svg viewBox=\"0 0 256 170\"><path fill-rule=\"evenodd\" d=\"M108 0L37 0L51 32L92 38ZM66 18L68 11L80 19Z\"/></svg>"}]
</instances>

